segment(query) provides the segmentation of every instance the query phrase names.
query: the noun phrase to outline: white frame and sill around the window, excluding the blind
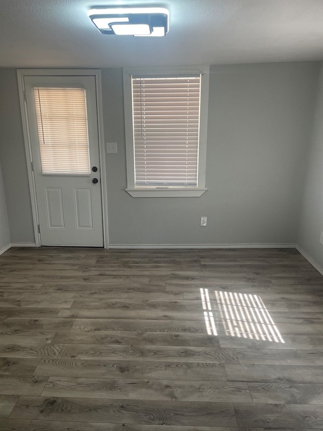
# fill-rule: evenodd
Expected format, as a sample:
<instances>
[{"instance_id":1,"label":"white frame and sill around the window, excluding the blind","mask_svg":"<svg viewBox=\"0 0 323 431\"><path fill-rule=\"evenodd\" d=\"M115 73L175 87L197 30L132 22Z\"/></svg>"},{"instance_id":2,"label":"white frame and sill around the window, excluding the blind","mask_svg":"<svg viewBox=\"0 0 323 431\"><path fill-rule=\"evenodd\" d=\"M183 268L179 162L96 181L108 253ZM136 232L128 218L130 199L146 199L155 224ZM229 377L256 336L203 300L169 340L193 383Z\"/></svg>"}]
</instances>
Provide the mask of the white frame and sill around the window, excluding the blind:
<instances>
[{"instance_id":1,"label":"white frame and sill around the window, excluding the blind","mask_svg":"<svg viewBox=\"0 0 323 431\"><path fill-rule=\"evenodd\" d=\"M137 186L135 185L134 137L133 137L133 109L132 109L132 81L131 77L160 77L169 75L184 76L185 74L201 74L200 124L198 145L198 176L197 186ZM127 188L126 191L133 198L156 197L200 197L207 190L205 186L206 174L206 142L208 119L208 89L209 66L161 66L161 67L131 67L123 69L124 110L127 159Z\"/></svg>"}]
</instances>

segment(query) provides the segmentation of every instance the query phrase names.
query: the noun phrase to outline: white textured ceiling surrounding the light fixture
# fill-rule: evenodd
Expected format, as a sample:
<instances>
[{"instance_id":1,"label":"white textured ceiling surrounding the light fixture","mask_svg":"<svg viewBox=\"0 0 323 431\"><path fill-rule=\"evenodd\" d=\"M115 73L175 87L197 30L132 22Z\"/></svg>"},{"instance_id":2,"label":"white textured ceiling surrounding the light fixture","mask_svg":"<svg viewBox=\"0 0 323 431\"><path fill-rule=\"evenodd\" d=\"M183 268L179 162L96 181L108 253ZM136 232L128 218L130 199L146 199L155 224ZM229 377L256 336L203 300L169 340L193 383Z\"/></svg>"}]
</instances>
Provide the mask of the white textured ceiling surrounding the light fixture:
<instances>
[{"instance_id":1,"label":"white textured ceiling surrounding the light fixture","mask_svg":"<svg viewBox=\"0 0 323 431\"><path fill-rule=\"evenodd\" d=\"M165 37L106 36L93 6L159 6ZM323 59L323 0L1 0L0 67L120 67Z\"/></svg>"}]
</instances>

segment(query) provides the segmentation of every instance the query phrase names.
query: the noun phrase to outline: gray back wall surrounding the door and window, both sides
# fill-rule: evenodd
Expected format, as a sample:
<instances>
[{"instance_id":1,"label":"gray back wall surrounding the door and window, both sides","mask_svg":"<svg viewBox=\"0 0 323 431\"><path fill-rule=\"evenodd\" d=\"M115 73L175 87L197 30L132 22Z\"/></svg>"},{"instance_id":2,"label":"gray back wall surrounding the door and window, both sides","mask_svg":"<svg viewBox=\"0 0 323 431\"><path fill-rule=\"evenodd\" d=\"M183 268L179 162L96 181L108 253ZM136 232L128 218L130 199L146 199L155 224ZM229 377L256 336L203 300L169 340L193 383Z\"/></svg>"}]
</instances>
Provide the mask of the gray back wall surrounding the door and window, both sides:
<instances>
[{"instance_id":1,"label":"gray back wall surrounding the door and window, both sides","mask_svg":"<svg viewBox=\"0 0 323 431\"><path fill-rule=\"evenodd\" d=\"M201 198L132 198L125 192L122 70L102 70L112 245L296 242L318 63L213 66ZM16 71L0 69L0 159L12 242L33 242ZM199 227L207 216L206 228Z\"/></svg>"}]
</instances>

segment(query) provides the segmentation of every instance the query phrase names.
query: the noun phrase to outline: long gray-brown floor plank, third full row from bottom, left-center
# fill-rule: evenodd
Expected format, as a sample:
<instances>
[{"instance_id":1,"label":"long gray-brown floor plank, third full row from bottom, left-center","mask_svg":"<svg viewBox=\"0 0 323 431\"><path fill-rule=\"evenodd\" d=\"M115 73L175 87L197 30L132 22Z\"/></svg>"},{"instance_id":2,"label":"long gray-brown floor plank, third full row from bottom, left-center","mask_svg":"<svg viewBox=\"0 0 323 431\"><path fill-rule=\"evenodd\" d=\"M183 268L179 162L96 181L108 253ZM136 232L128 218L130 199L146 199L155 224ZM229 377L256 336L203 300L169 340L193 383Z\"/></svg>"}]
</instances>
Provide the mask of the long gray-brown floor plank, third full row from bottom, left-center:
<instances>
[{"instance_id":1,"label":"long gray-brown floor plank, third full row from bottom, left-center","mask_svg":"<svg viewBox=\"0 0 323 431\"><path fill-rule=\"evenodd\" d=\"M210 362L40 359L34 375L227 381L224 364Z\"/></svg>"}]
</instances>

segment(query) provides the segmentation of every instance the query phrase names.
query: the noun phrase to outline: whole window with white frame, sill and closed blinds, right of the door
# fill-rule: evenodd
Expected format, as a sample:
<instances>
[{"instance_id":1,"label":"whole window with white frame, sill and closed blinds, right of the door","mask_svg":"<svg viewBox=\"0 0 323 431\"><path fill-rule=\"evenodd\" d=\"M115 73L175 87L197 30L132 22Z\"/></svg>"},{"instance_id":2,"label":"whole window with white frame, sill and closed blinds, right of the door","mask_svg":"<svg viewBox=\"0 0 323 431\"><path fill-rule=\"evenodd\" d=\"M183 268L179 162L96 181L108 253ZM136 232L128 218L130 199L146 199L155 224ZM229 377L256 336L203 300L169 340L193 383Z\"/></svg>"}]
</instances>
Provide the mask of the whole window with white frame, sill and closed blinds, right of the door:
<instances>
[{"instance_id":1,"label":"whole window with white frame, sill and closed blinds, right of the door","mask_svg":"<svg viewBox=\"0 0 323 431\"><path fill-rule=\"evenodd\" d=\"M208 67L125 69L126 190L198 197L205 188Z\"/></svg>"}]
</instances>

